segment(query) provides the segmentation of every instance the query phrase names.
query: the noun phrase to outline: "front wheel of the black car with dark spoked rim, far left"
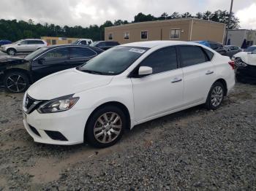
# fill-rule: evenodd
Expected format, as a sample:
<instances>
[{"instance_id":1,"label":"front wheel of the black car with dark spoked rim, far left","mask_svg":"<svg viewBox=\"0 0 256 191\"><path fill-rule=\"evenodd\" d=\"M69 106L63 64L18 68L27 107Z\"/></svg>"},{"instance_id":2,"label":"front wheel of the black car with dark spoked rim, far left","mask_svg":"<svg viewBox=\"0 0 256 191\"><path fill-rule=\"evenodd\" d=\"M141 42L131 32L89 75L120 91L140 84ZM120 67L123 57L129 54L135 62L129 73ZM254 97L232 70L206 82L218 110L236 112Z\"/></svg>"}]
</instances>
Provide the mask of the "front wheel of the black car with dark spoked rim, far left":
<instances>
[{"instance_id":1,"label":"front wheel of the black car with dark spoked rim, far left","mask_svg":"<svg viewBox=\"0 0 256 191\"><path fill-rule=\"evenodd\" d=\"M29 87L29 77L20 71L11 71L4 76L4 87L10 93L22 93Z\"/></svg>"}]
</instances>

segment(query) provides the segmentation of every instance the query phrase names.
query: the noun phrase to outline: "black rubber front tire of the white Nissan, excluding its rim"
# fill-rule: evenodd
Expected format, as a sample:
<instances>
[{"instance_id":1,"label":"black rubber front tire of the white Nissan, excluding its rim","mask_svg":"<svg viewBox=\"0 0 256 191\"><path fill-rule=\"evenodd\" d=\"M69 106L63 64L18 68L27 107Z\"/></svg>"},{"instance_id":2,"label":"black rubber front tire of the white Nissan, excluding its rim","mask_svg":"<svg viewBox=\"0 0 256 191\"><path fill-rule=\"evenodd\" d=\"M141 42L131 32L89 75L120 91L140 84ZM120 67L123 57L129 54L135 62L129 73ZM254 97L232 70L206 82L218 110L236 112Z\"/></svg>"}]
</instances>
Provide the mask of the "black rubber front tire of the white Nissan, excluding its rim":
<instances>
[{"instance_id":1,"label":"black rubber front tire of the white Nissan, excluding its rim","mask_svg":"<svg viewBox=\"0 0 256 191\"><path fill-rule=\"evenodd\" d=\"M94 137L94 125L97 119L106 112L115 112L121 117L122 122L122 128L118 135L118 137L107 144L102 144ZM104 106L102 108L97 109L93 114L91 114L91 117L89 117L89 121L86 124L86 130L85 130L85 141L87 141L91 146L98 147L98 148L104 148L104 147L110 147L113 144L116 144L117 141L121 139L121 136L124 133L124 129L127 128L127 117L125 117L124 112L119 109L117 106Z\"/></svg>"}]
</instances>

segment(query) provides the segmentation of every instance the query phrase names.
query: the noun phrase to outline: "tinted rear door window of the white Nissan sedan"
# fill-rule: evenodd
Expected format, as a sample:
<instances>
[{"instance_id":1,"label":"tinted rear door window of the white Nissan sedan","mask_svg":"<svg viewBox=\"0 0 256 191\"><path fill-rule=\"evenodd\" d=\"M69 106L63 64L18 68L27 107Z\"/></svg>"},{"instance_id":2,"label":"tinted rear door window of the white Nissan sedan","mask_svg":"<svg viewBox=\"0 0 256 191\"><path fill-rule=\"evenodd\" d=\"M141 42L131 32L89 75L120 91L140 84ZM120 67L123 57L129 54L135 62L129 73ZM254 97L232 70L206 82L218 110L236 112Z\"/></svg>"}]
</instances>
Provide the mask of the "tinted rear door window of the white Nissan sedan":
<instances>
[{"instance_id":1,"label":"tinted rear door window of the white Nissan sedan","mask_svg":"<svg viewBox=\"0 0 256 191\"><path fill-rule=\"evenodd\" d=\"M206 57L201 47L181 46L179 47L179 50L181 53L182 67L193 66L195 64L208 61L208 58Z\"/></svg>"}]
</instances>

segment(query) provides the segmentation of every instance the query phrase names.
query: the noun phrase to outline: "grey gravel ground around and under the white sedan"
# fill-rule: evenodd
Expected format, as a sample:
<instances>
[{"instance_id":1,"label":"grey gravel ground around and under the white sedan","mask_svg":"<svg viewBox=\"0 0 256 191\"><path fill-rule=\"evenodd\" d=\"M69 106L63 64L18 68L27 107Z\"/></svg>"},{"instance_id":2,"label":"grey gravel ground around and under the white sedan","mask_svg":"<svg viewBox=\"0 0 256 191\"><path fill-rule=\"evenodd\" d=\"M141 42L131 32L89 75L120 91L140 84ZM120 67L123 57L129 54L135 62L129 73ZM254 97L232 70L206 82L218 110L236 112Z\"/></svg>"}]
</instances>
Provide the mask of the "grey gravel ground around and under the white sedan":
<instances>
[{"instance_id":1,"label":"grey gravel ground around and under the white sedan","mask_svg":"<svg viewBox=\"0 0 256 191\"><path fill-rule=\"evenodd\" d=\"M34 143L0 90L0 190L256 190L256 86L127 131L113 147Z\"/></svg>"}]
</instances>

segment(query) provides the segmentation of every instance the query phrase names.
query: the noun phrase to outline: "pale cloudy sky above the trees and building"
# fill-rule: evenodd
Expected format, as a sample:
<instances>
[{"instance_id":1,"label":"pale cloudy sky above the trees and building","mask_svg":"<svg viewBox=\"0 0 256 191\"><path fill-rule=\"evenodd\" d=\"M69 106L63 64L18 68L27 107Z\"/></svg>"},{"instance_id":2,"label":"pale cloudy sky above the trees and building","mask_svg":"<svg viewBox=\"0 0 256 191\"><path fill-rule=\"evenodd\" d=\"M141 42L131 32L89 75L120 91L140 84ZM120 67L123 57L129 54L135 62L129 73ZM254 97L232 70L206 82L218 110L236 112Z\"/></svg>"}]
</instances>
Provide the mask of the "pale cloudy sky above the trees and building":
<instances>
[{"instance_id":1,"label":"pale cloudy sky above the trees and building","mask_svg":"<svg viewBox=\"0 0 256 191\"><path fill-rule=\"evenodd\" d=\"M101 25L105 20L128 20L138 12L156 17L163 12L205 12L226 9L231 0L0 0L0 19L34 20L59 26ZM256 29L256 0L234 0L241 28Z\"/></svg>"}]
</instances>

